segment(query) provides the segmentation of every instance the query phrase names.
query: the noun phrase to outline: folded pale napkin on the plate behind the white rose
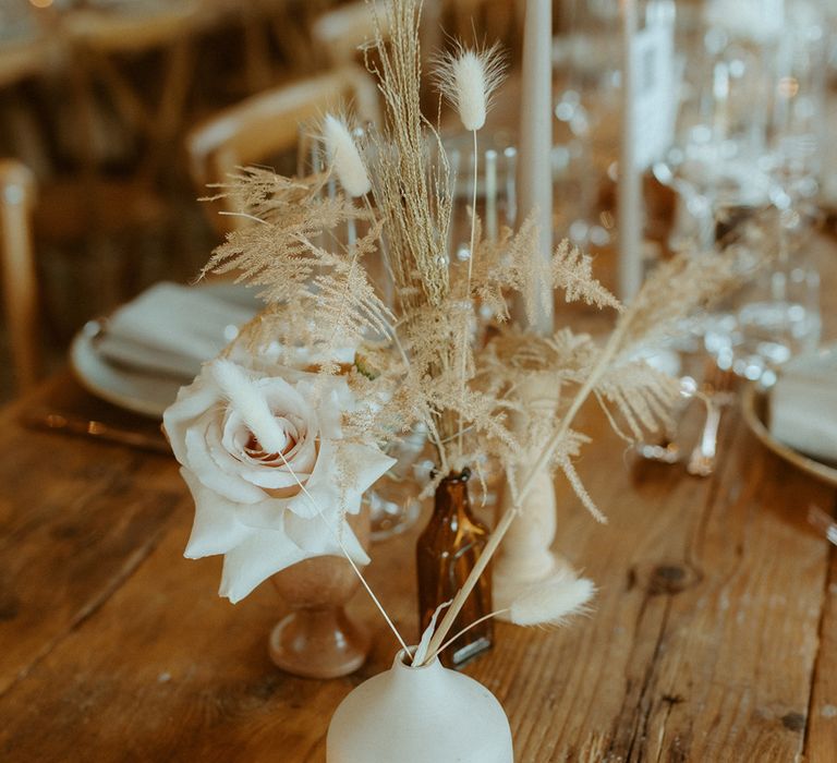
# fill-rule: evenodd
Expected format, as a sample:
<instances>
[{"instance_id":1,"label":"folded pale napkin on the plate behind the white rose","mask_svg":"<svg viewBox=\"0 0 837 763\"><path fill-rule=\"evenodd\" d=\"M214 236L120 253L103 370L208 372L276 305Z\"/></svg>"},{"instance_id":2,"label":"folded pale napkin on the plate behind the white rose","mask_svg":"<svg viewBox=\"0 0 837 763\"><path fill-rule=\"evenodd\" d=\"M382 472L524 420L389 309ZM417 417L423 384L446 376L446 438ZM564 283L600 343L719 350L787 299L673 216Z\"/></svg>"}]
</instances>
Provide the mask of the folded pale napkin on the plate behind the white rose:
<instances>
[{"instance_id":1,"label":"folded pale napkin on the plate behind the white rose","mask_svg":"<svg viewBox=\"0 0 837 763\"><path fill-rule=\"evenodd\" d=\"M113 313L96 349L112 363L190 379L255 315L256 302L240 291L158 283Z\"/></svg>"}]
</instances>

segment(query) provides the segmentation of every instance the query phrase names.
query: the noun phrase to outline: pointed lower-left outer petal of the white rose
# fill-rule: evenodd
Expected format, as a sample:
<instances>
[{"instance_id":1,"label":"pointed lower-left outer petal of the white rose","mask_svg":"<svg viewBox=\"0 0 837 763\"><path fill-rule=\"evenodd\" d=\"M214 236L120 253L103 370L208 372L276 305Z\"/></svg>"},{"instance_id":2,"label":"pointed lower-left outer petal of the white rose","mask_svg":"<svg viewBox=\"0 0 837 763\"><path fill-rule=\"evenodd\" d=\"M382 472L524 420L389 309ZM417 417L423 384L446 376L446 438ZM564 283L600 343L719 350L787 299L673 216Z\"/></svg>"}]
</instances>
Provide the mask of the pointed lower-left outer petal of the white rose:
<instances>
[{"instance_id":1,"label":"pointed lower-left outer petal of the white rose","mask_svg":"<svg viewBox=\"0 0 837 763\"><path fill-rule=\"evenodd\" d=\"M187 469L180 474L195 500L195 519L183 553L189 559L226 554L251 537L254 531L235 519L235 505L209 491Z\"/></svg>"}]
</instances>

